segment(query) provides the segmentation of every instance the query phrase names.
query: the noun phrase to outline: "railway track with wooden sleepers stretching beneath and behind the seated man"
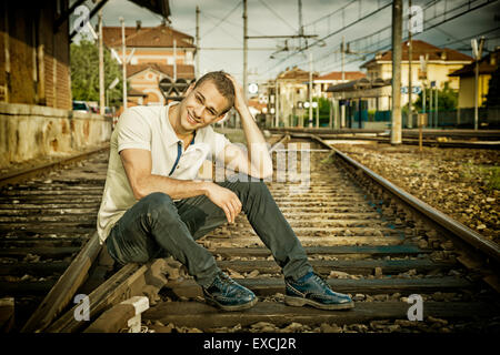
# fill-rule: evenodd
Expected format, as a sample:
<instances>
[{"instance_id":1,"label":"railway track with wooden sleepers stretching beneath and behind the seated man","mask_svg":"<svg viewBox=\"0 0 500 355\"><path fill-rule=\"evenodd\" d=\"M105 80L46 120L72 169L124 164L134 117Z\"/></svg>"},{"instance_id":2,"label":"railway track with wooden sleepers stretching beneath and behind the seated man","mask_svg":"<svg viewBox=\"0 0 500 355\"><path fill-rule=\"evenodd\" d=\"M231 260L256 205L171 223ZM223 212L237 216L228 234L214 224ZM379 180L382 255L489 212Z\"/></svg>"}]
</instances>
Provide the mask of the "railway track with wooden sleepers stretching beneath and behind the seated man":
<instances>
[{"instance_id":1,"label":"railway track with wooden sleepers stretching beneath and behind the seated man","mask_svg":"<svg viewBox=\"0 0 500 355\"><path fill-rule=\"evenodd\" d=\"M96 166L102 170L91 173L96 181L93 186L77 170L73 172L79 175L77 180L68 178L67 181L74 183L76 187L71 189L74 193L72 197L64 195L66 190L61 185L59 192L34 193L43 191L38 185L43 181L33 182L32 189L26 184L7 190L6 196L2 192L4 206L0 229L3 240L22 242L23 237L29 243L34 243L33 240L41 242L40 231L50 230L52 235L48 236L51 237L48 242L73 242L78 237L80 243L49 244L52 250L73 247L73 254L69 255L74 261L39 305L38 315L31 315L31 323L23 329L86 331L89 322L78 322L73 316L77 306L71 301L77 293L89 294L93 305L90 318L97 320L94 324L101 323L93 329L110 332L126 327L127 318L113 318L103 325L103 315L112 312L119 302L134 295L149 296L151 307L142 313L142 324L154 332L406 332L421 324L407 318L411 304L406 301L414 294L422 297L423 315L436 324L433 328L454 331L459 328L453 327L454 324L472 322L488 329L492 322L498 324L500 307L498 293L493 291L498 287L499 251L496 245L481 242L472 231L457 226L453 221L436 220L431 212L426 213L426 205L416 205L411 199L408 201L407 196L388 190L361 166L342 158L340 152L332 154L332 149L318 136L287 135L278 143L274 145L274 159L293 158L290 149L294 143L299 148L299 163L294 173L290 169L277 172L283 173L281 176L286 181L276 182L273 179L268 185L304 245L314 270L328 280L334 291L351 294L356 301L354 310L326 312L286 306L284 283L279 267L244 215L240 215L234 225L213 231L200 243L214 254L222 270L259 296L260 302L251 310L227 313L204 304L201 288L173 260L154 261L147 265L130 264L112 271L106 254L99 254L96 235L90 229L99 206L99 186L102 189L106 176L106 161L97 159ZM309 150L301 151L304 146ZM300 175L304 171L306 174ZM309 185L304 184L306 175L310 176ZM291 182L293 178L298 181ZM78 179L81 183L77 182ZM57 186L54 178L49 180ZM24 211L17 214L12 212L16 211L12 204L14 200L21 201L21 195L23 199L38 196L39 200L30 205L39 217L44 217L44 213L40 212L50 211L40 209L39 203L47 203L46 199L53 200L56 204L56 199L66 196L68 210L53 207L56 210L44 221ZM87 200L77 202L79 206L74 203L70 206L70 201L74 202L77 196ZM88 205L83 206L83 203ZM60 211L64 213L59 215ZM29 223L29 226L22 230L22 223ZM60 234L53 232L58 229ZM82 233L78 234L78 231ZM74 256L76 248L83 241L88 241L86 246ZM28 245L38 250L42 246L24 246ZM14 263L19 263L19 258ZM27 265L21 266L18 274L27 270ZM60 264L59 272L66 266ZM66 296L61 296L62 291L67 292ZM49 304L52 306L49 307Z\"/></svg>"}]
</instances>

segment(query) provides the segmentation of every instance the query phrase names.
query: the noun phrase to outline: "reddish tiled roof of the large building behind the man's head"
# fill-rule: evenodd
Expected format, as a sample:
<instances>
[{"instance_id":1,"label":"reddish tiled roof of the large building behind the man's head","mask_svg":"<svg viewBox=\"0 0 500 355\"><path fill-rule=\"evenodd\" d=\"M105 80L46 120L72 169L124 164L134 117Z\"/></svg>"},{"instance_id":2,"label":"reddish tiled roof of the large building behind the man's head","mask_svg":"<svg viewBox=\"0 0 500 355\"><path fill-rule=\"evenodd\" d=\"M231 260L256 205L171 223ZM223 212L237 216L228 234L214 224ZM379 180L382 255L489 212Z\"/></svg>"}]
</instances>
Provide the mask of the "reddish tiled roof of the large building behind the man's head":
<instances>
[{"instance_id":1,"label":"reddish tiled roof of the large building behind the man's head","mask_svg":"<svg viewBox=\"0 0 500 355\"><path fill-rule=\"evenodd\" d=\"M179 32L168 26L157 27L126 27L126 44L127 47L176 47L178 48L196 48L193 38L189 34ZM102 39L107 47L121 45L121 27L102 28Z\"/></svg>"}]
</instances>

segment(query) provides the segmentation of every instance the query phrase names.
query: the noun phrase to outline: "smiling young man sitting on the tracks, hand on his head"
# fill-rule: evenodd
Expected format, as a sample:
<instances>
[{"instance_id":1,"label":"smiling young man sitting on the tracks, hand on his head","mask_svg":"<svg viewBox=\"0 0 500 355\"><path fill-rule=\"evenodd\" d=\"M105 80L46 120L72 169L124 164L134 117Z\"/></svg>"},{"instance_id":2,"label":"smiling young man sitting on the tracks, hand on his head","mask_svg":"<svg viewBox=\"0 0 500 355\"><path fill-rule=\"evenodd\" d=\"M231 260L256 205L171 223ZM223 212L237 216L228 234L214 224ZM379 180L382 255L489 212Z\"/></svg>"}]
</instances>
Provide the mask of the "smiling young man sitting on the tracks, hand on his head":
<instances>
[{"instance_id":1,"label":"smiling young man sitting on the tracks, hand on his head","mask_svg":"<svg viewBox=\"0 0 500 355\"><path fill-rule=\"evenodd\" d=\"M210 126L233 106L248 153ZM238 166L238 179L194 181L210 158ZM282 268L288 305L352 308L348 295L332 292L313 273L298 237L259 180L271 175L266 141L241 87L224 72L210 72L187 90L181 102L134 106L120 116L111 136L98 215L100 241L120 264L172 255L201 285L207 303L226 311L244 310L257 303L253 292L224 274L196 242L217 226L233 223L243 210Z\"/></svg>"}]
</instances>

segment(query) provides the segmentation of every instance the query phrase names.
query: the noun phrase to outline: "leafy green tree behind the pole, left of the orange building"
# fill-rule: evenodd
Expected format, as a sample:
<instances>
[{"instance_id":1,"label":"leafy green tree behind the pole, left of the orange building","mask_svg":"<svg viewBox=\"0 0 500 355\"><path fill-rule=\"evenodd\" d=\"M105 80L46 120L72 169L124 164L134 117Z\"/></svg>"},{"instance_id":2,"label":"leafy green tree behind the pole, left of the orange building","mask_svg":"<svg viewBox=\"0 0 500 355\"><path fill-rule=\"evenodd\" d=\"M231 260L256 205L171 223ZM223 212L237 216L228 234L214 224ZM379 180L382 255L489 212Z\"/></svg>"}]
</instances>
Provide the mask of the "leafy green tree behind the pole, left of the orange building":
<instances>
[{"instance_id":1,"label":"leafy green tree behind the pole, left of the orange building","mask_svg":"<svg viewBox=\"0 0 500 355\"><path fill-rule=\"evenodd\" d=\"M99 102L99 48L96 43L81 40L79 44L71 43L71 93L73 100ZM121 79L121 65L111 57L111 51L104 47L104 90L114 78ZM108 90L110 106L121 104L122 82Z\"/></svg>"}]
</instances>

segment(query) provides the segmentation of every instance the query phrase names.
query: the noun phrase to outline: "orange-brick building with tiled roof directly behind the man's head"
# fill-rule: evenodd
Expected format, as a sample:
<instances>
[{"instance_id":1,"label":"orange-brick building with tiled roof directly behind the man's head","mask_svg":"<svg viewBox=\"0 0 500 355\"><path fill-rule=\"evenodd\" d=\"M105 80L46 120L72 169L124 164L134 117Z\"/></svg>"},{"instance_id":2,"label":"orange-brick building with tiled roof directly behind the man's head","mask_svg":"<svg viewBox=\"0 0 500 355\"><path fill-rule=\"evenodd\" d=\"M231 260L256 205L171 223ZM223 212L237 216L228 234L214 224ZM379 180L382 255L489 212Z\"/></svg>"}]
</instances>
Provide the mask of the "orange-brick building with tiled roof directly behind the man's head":
<instances>
[{"instance_id":1,"label":"orange-brick building with tiled roof directly behind the man's head","mask_svg":"<svg viewBox=\"0 0 500 355\"><path fill-rule=\"evenodd\" d=\"M121 27L104 27L104 44L122 58ZM194 79L193 38L179 32L162 22L160 26L144 28L138 21L136 27L127 27L126 57L129 105L166 104L159 82L163 78L172 82L179 78L188 82ZM142 93L142 95L140 95Z\"/></svg>"}]
</instances>

